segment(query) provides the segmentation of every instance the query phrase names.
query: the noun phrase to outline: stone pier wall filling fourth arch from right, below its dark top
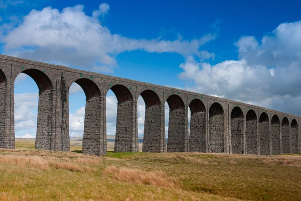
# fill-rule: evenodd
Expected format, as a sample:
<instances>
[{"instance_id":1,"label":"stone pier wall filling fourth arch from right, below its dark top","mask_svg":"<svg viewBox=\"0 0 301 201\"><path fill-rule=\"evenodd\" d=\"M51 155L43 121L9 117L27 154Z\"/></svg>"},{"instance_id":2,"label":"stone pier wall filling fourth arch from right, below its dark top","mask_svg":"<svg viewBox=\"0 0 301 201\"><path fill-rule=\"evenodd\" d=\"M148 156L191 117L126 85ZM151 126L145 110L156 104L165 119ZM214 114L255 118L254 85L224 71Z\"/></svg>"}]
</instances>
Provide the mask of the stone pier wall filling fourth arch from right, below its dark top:
<instances>
[{"instance_id":1,"label":"stone pier wall filling fourth arch from right, below its dark top","mask_svg":"<svg viewBox=\"0 0 301 201\"><path fill-rule=\"evenodd\" d=\"M260 155L270 154L269 122L259 123Z\"/></svg>"}]
</instances>

